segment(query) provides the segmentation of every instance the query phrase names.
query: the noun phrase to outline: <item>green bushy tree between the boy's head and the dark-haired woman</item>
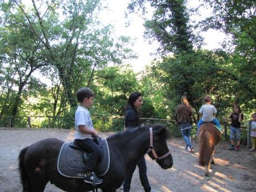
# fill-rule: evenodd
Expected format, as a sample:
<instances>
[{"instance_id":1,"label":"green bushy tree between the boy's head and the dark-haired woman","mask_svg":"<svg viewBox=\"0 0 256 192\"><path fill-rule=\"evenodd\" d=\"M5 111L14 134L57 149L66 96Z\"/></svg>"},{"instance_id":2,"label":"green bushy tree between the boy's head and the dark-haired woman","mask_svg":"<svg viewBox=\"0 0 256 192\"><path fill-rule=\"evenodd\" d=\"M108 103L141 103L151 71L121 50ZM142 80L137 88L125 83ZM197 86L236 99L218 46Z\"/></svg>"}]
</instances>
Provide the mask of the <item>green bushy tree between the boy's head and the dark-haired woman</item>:
<instances>
[{"instance_id":1,"label":"green bushy tree between the boy's head and the dark-haired woman","mask_svg":"<svg viewBox=\"0 0 256 192\"><path fill-rule=\"evenodd\" d=\"M124 116L127 97L140 89L136 74L126 66L106 67L96 71L95 80L97 107L104 114Z\"/></svg>"}]
</instances>

